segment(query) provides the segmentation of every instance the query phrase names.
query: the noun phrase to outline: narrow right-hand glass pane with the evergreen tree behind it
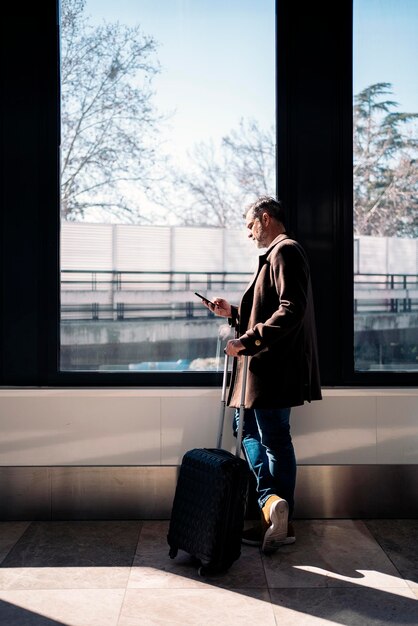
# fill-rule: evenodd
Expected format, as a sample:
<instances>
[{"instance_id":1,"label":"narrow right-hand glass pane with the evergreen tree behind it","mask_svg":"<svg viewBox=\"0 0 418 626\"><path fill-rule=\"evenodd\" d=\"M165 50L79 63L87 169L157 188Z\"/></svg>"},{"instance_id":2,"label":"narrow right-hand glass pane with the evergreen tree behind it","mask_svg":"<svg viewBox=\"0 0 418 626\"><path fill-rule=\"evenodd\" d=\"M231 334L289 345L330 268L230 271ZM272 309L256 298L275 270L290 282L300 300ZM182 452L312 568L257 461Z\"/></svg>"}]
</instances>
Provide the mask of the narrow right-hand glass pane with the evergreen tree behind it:
<instances>
[{"instance_id":1,"label":"narrow right-hand glass pane with the evergreen tree behind it","mask_svg":"<svg viewBox=\"0 0 418 626\"><path fill-rule=\"evenodd\" d=\"M354 2L355 368L418 371L418 3Z\"/></svg>"}]
</instances>

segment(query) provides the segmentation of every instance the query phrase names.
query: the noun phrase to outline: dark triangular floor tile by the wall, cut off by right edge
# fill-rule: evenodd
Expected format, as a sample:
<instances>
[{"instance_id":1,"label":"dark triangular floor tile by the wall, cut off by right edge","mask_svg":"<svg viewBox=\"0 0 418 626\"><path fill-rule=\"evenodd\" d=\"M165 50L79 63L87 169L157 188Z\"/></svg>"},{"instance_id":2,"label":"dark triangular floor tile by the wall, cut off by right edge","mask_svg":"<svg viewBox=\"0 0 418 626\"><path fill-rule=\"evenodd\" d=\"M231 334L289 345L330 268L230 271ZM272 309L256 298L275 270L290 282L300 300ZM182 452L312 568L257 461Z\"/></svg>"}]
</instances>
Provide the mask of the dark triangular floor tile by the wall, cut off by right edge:
<instances>
[{"instance_id":1,"label":"dark triangular floor tile by the wall, cut off by right edge","mask_svg":"<svg viewBox=\"0 0 418 626\"><path fill-rule=\"evenodd\" d=\"M418 520L367 520L367 528L411 588L418 590Z\"/></svg>"}]
</instances>

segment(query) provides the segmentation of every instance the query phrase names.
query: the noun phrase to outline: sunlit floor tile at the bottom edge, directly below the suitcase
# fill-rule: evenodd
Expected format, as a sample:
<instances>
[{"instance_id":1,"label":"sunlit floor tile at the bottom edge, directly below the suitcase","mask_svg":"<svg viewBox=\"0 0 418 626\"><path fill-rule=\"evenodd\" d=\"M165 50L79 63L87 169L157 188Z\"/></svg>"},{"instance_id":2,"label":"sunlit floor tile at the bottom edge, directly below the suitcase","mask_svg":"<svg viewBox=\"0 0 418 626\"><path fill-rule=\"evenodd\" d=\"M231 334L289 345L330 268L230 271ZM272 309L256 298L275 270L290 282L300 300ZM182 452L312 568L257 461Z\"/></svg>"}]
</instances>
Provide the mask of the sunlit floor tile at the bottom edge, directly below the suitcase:
<instances>
[{"instance_id":1,"label":"sunlit floor tile at the bottom edge, directly below the suitcase","mask_svg":"<svg viewBox=\"0 0 418 626\"><path fill-rule=\"evenodd\" d=\"M275 626L267 590L129 589L118 626Z\"/></svg>"}]
</instances>

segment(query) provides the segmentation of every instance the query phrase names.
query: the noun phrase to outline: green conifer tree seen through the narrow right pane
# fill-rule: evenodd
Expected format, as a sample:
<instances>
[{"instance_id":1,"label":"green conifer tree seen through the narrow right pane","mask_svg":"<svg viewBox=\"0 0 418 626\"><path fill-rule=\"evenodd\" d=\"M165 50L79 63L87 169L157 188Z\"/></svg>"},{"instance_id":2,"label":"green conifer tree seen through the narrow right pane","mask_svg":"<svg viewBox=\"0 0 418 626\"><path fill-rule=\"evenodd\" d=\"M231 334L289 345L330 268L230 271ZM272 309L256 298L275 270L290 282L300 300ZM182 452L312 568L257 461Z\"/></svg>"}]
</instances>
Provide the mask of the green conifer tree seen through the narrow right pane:
<instances>
[{"instance_id":1,"label":"green conifer tree seen through the narrow right pane","mask_svg":"<svg viewBox=\"0 0 418 626\"><path fill-rule=\"evenodd\" d=\"M390 83L354 101L354 228L358 235L418 236L418 113L400 113Z\"/></svg>"}]
</instances>

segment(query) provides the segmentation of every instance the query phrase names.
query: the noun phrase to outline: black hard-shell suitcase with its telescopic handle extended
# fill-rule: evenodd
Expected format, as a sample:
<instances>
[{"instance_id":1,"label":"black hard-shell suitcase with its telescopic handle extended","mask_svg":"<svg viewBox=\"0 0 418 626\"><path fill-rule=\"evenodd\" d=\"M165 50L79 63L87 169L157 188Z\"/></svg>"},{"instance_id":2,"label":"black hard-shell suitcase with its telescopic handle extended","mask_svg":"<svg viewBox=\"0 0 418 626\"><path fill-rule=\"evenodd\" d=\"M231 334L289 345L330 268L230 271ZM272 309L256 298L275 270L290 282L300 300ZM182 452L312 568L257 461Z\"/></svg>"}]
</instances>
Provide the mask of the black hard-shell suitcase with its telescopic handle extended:
<instances>
[{"instance_id":1,"label":"black hard-shell suitcase with its telescopic handle extended","mask_svg":"<svg viewBox=\"0 0 418 626\"><path fill-rule=\"evenodd\" d=\"M248 367L248 357L244 357ZM167 541L174 559L184 550L197 559L199 574L229 569L241 554L248 491L248 465L241 455L245 382L235 455L222 450L228 358L225 358L217 448L195 448L183 457L174 496ZM246 381L246 375L244 375Z\"/></svg>"}]
</instances>

